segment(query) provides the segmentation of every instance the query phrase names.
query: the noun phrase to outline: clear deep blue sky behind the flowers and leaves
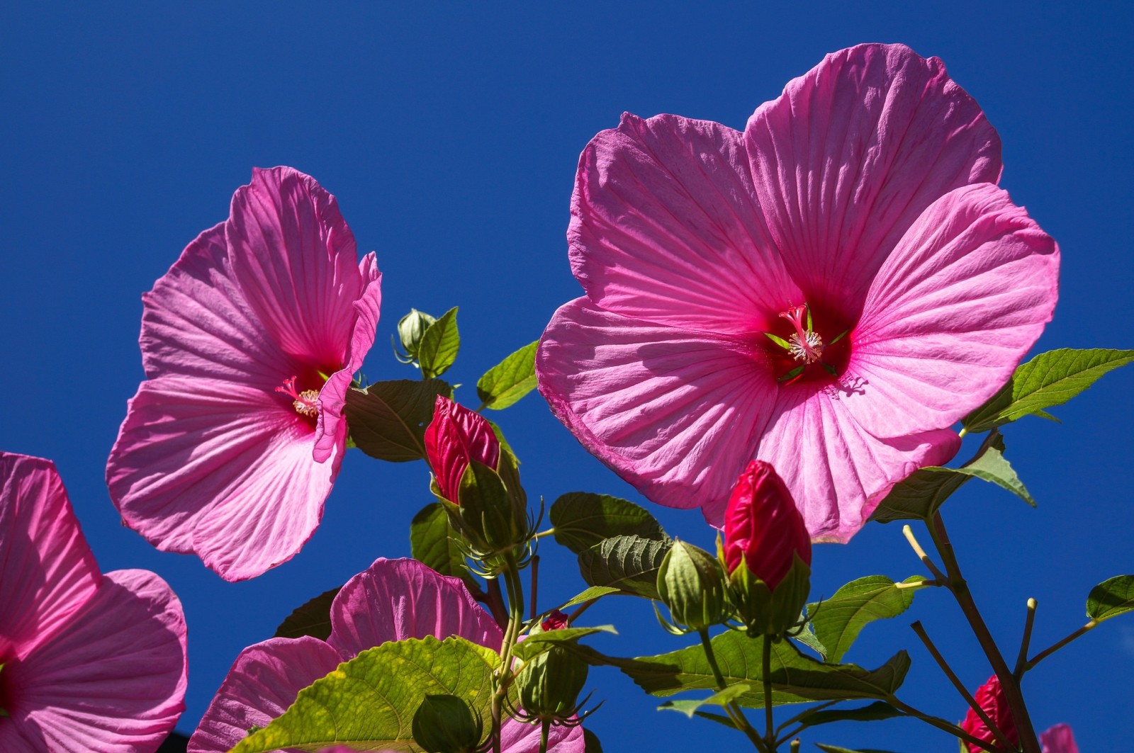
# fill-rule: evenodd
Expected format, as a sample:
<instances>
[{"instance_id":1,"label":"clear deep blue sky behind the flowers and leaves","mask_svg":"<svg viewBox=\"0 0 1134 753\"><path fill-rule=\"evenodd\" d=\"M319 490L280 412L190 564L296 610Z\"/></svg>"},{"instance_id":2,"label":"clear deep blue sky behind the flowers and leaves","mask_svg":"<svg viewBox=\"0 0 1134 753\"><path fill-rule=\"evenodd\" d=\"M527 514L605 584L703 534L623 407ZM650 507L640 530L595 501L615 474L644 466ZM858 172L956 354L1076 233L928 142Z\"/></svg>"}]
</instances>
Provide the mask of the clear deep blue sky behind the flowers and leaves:
<instances>
[{"instance_id":1,"label":"clear deep blue sky behind the flowers and leaves","mask_svg":"<svg viewBox=\"0 0 1134 753\"><path fill-rule=\"evenodd\" d=\"M240 649L375 557L408 555L409 519L430 500L422 464L354 454L304 551L239 584L119 525L103 468L142 379L139 296L200 230L225 219L253 166L314 176L339 198L359 249L378 253L383 316L367 376L413 376L386 345L411 306L460 306L452 379L471 395L484 370L579 295L564 234L575 163L596 132L624 110L741 128L824 53L904 42L942 58L981 103L1004 141L1001 186L1060 244L1060 302L1039 349L1132 347L1132 22L1117 2L5 3L0 447L56 460L104 570L153 569L180 594L191 685L179 729L189 731ZM1061 425L1033 418L1006 430L1038 509L976 482L945 509L1008 655L1029 597L1040 602L1042 648L1085 620L1093 584L1134 572L1132 390L1134 371L1117 372L1056 408ZM531 494L642 501L538 395L500 421ZM711 543L697 514L657 511L671 533ZM550 545L542 553L548 603L579 590L568 557ZM818 548L814 572L819 595L863 575L903 578L919 562L896 525L872 524L849 545ZM620 636L601 643L611 653L682 645L644 602L589 616L618 625ZM868 628L847 659L875 666L908 648L903 696L959 719L964 702L917 644L913 619L967 684L988 677L956 606L938 591ZM1132 631L1122 618L1108 623L1030 674L1036 725L1072 724L1084 751L1128 746ZM592 678L608 703L591 726L608 751L741 746L710 722L655 712L654 699L613 671ZM832 726L805 742L956 750L897 721Z\"/></svg>"}]
</instances>

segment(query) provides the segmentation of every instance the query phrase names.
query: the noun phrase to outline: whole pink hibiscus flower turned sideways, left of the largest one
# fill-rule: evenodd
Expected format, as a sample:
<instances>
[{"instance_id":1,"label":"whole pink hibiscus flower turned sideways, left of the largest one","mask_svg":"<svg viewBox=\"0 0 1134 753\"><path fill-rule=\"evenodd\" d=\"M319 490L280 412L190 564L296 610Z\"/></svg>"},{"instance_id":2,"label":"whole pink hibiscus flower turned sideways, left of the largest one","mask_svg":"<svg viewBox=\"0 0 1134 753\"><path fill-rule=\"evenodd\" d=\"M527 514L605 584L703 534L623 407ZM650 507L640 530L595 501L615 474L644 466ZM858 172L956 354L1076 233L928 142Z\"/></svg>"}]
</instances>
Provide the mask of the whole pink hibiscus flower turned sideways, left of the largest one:
<instances>
[{"instance_id":1,"label":"whole pink hibiscus flower turned sideways, left of the largest one","mask_svg":"<svg viewBox=\"0 0 1134 753\"><path fill-rule=\"evenodd\" d=\"M333 196L291 168L254 170L229 219L143 296L147 379L107 464L126 524L228 581L294 557L342 462L380 281Z\"/></svg>"}]
</instances>

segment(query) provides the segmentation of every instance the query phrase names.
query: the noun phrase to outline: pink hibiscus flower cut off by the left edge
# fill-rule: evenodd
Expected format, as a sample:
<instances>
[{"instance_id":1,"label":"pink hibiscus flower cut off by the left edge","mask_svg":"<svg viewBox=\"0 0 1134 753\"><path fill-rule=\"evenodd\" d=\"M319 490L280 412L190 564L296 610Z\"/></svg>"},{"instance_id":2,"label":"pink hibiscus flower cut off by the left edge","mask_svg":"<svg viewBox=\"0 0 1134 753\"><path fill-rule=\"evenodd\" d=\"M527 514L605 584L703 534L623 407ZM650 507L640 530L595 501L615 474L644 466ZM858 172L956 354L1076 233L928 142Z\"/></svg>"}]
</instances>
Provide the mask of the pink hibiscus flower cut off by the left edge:
<instances>
[{"instance_id":1,"label":"pink hibiscus flower cut off by the left edge","mask_svg":"<svg viewBox=\"0 0 1134 753\"><path fill-rule=\"evenodd\" d=\"M166 582L100 574L54 464L0 452L0 751L152 751L185 680Z\"/></svg>"}]
</instances>

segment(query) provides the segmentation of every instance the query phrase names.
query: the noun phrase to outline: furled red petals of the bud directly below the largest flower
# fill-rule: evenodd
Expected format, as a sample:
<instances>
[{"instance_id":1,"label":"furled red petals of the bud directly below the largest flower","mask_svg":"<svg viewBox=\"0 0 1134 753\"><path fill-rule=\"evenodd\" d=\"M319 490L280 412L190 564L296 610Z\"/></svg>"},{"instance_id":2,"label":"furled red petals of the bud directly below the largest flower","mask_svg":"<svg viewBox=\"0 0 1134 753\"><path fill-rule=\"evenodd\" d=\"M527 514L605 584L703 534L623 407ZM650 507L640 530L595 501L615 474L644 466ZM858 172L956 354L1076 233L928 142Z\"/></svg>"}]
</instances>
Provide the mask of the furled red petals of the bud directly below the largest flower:
<instances>
[{"instance_id":1,"label":"furled red petals of the bud directly below the largest flower","mask_svg":"<svg viewBox=\"0 0 1134 753\"><path fill-rule=\"evenodd\" d=\"M733 488L725 511L725 565L741 561L775 590L792 569L794 555L811 565L811 535L792 492L763 460L753 460Z\"/></svg>"}]
</instances>

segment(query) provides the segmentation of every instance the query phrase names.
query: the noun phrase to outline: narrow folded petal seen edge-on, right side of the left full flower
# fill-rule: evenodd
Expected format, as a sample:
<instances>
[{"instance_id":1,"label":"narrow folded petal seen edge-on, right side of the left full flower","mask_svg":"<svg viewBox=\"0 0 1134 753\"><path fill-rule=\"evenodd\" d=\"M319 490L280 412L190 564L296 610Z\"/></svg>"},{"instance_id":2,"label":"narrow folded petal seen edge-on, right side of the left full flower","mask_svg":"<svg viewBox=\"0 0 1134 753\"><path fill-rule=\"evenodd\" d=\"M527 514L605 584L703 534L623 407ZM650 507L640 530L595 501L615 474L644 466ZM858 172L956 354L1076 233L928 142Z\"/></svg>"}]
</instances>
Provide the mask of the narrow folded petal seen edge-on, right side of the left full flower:
<instances>
[{"instance_id":1,"label":"narrow folded petal seen edge-on, right side of the left full flower","mask_svg":"<svg viewBox=\"0 0 1134 753\"><path fill-rule=\"evenodd\" d=\"M342 369L331 374L319 392L319 425L315 429L314 458L325 462L346 449L347 424L342 417L346 409L347 390L356 371L362 369L363 358L374 345L379 310L382 306L382 273L378 271L378 260L373 252L366 254L358 265L363 288L354 307L356 318L350 332L350 345Z\"/></svg>"}]
</instances>

